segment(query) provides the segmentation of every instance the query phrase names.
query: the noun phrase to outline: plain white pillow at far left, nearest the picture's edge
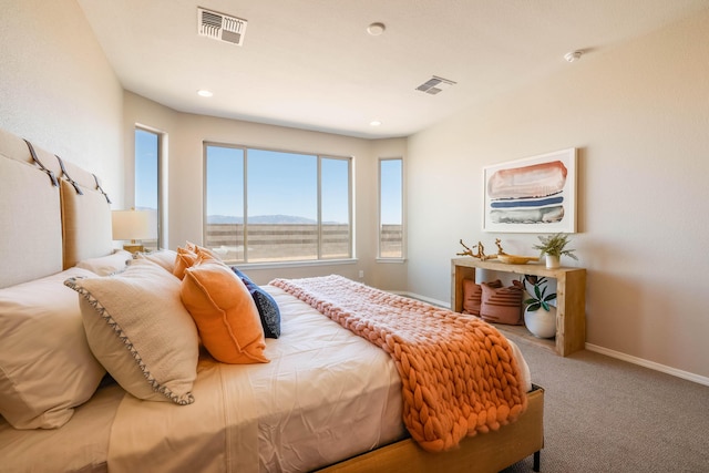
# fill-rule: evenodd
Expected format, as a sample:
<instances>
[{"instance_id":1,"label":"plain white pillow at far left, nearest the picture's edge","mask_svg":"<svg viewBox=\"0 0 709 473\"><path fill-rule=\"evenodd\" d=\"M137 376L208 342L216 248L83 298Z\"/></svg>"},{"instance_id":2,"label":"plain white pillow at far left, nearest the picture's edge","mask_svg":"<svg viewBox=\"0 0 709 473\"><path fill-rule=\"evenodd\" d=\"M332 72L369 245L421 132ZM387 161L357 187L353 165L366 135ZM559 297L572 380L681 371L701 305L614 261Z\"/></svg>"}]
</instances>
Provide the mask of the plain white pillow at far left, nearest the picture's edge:
<instances>
[{"instance_id":1,"label":"plain white pillow at far left, nearest the picture's edge","mask_svg":"<svg viewBox=\"0 0 709 473\"><path fill-rule=\"evenodd\" d=\"M0 414L16 429L56 429L105 374L89 349L71 268L0 289Z\"/></svg>"}]
</instances>

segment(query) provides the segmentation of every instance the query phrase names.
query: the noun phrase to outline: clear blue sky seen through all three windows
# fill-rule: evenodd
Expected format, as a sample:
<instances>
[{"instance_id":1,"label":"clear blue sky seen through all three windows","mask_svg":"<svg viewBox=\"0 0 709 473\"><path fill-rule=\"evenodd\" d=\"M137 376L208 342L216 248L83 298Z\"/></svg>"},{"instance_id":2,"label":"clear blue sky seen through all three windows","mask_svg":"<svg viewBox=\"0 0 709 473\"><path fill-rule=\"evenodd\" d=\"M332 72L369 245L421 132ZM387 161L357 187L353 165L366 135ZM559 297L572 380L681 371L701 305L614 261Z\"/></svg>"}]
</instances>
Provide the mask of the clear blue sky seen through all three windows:
<instances>
[{"instance_id":1,"label":"clear blue sky seen through all three windows","mask_svg":"<svg viewBox=\"0 0 709 473\"><path fill-rule=\"evenodd\" d=\"M136 207L157 207L157 135L137 130ZM243 217L244 150L208 146L207 215ZM248 214L317 220L315 155L248 150ZM322 222L348 222L348 161L322 158ZM382 162L383 224L401 224L401 161ZM376 186L374 186L376 188Z\"/></svg>"}]
</instances>

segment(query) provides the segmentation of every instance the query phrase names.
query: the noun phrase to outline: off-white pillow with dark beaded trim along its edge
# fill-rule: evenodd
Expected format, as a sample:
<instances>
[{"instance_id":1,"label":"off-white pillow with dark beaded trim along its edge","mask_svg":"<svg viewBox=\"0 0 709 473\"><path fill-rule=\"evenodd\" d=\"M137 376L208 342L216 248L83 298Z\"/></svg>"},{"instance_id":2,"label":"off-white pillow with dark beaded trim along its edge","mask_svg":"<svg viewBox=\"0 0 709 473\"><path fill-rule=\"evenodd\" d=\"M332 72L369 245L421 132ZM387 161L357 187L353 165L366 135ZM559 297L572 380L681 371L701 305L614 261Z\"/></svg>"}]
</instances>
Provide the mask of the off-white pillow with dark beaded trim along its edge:
<instances>
[{"instance_id":1,"label":"off-white pillow with dark beaded trim along its edge","mask_svg":"<svg viewBox=\"0 0 709 473\"><path fill-rule=\"evenodd\" d=\"M138 399L194 402L197 328L179 300L179 279L136 259L123 273L71 278L94 356Z\"/></svg>"}]
</instances>

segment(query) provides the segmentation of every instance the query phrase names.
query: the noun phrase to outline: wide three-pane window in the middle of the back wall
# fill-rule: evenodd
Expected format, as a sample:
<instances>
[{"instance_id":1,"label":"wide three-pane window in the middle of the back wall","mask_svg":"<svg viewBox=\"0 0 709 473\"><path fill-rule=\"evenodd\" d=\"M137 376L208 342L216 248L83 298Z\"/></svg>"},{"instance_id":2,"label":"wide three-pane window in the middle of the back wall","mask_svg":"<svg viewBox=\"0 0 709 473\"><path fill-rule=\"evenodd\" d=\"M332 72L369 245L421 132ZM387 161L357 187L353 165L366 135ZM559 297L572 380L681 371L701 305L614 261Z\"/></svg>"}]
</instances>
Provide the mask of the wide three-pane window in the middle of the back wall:
<instances>
[{"instance_id":1,"label":"wide three-pane window in the middle of the back wall","mask_svg":"<svg viewBox=\"0 0 709 473\"><path fill-rule=\"evenodd\" d=\"M352 257L351 160L205 144L204 244L232 263Z\"/></svg>"}]
</instances>

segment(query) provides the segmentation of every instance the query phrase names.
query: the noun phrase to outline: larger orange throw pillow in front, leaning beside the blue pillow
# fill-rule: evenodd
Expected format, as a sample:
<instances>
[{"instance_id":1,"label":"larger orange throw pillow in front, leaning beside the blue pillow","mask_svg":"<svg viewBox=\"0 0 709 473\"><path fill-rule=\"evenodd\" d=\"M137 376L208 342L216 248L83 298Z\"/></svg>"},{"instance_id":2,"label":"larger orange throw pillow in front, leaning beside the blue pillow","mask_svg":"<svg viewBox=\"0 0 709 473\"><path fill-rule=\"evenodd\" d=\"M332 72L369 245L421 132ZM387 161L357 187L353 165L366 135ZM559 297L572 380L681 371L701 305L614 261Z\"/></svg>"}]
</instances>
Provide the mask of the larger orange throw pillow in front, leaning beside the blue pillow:
<instances>
[{"instance_id":1,"label":"larger orange throw pillow in front, leaning beside the blue pillow","mask_svg":"<svg viewBox=\"0 0 709 473\"><path fill-rule=\"evenodd\" d=\"M179 295L203 345L216 360L233 364L268 362L254 298L228 266L201 258L185 269Z\"/></svg>"}]
</instances>

